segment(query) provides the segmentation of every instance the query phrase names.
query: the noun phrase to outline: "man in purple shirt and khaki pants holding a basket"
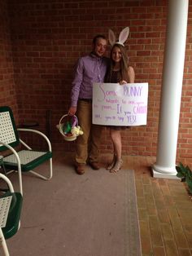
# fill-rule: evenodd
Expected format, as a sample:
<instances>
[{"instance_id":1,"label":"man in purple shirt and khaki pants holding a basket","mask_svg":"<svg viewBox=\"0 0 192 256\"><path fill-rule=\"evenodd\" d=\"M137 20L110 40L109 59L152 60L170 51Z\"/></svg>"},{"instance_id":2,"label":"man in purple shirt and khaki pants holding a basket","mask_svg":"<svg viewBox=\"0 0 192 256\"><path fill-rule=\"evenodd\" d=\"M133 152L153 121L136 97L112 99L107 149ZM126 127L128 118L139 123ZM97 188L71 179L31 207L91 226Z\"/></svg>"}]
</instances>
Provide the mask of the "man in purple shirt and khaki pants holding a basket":
<instances>
[{"instance_id":1,"label":"man in purple shirt and khaki pants holding a basket","mask_svg":"<svg viewBox=\"0 0 192 256\"><path fill-rule=\"evenodd\" d=\"M71 107L69 115L78 118L84 134L76 139L76 173L85 173L85 164L98 170L98 148L100 145L102 126L92 124L93 83L104 82L108 59L104 57L107 50L107 39L97 35L93 40L93 51L81 57L76 65L76 73L72 82Z\"/></svg>"}]
</instances>

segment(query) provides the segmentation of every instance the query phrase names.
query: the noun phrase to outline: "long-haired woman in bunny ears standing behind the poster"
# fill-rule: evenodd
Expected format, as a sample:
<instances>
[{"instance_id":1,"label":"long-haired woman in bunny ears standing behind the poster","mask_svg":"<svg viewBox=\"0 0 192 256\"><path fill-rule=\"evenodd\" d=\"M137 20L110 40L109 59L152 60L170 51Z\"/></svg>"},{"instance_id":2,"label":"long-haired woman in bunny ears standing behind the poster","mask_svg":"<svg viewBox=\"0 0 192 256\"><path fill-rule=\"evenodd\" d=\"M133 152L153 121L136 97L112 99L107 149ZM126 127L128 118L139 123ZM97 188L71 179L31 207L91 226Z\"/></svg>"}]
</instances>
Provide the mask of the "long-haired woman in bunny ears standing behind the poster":
<instances>
[{"instance_id":1,"label":"long-haired woman in bunny ears standing behind the poster","mask_svg":"<svg viewBox=\"0 0 192 256\"><path fill-rule=\"evenodd\" d=\"M124 85L126 83L134 82L134 70L129 66L128 56L124 46L120 43L115 43L111 49L111 65L107 72L106 82L120 83ZM124 129L124 126L110 126L110 136L113 143L114 157L107 170L112 173L116 173L120 170L123 161L121 158L121 135L120 130Z\"/></svg>"}]
</instances>

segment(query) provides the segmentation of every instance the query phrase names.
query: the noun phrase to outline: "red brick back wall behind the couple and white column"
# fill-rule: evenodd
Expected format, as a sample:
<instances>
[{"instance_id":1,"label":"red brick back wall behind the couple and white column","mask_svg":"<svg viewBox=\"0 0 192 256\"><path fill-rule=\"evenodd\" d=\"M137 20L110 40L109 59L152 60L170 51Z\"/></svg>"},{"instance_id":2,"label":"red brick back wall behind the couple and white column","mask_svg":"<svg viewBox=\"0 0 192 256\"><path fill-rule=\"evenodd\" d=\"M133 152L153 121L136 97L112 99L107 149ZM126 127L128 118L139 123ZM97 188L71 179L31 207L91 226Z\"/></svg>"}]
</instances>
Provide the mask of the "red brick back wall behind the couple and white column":
<instances>
[{"instance_id":1,"label":"red brick back wall behind the couple and white column","mask_svg":"<svg viewBox=\"0 0 192 256\"><path fill-rule=\"evenodd\" d=\"M55 148L73 150L56 130L59 117L68 112L72 70L81 55L91 51L95 34L116 35L130 27L129 60L136 82L149 83L147 126L122 132L123 154L155 156L159 120L159 97L164 58L168 1L41 1L10 0L9 20L15 85L20 122L38 121ZM191 19L190 0L185 76L177 160L192 160L191 106ZM2 74L0 74L2 75ZM111 152L108 130L103 130L101 152Z\"/></svg>"}]
</instances>

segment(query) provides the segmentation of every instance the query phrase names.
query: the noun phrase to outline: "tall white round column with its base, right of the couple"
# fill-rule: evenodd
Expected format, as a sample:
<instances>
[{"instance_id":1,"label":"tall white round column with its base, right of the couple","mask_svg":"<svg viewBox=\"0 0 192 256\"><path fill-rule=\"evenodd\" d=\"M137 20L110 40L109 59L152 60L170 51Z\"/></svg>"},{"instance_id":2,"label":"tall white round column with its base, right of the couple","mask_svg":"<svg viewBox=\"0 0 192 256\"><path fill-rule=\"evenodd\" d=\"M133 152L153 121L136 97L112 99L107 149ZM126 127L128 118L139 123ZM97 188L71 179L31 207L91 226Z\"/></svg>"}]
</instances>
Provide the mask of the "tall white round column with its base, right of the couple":
<instances>
[{"instance_id":1,"label":"tall white round column with its base, right of the couple","mask_svg":"<svg viewBox=\"0 0 192 256\"><path fill-rule=\"evenodd\" d=\"M159 112L156 178L176 179L177 135L185 60L188 0L169 0Z\"/></svg>"}]
</instances>

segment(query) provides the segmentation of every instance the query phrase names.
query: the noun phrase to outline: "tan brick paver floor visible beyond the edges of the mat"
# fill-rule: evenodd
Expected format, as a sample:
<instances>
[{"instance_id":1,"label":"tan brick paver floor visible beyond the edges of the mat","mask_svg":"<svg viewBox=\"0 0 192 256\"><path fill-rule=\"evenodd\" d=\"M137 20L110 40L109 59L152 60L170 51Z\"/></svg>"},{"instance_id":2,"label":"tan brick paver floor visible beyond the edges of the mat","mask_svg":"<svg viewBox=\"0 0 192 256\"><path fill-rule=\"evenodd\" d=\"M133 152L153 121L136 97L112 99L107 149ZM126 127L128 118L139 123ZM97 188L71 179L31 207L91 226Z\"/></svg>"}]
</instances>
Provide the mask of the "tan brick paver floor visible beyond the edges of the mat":
<instances>
[{"instance_id":1,"label":"tan brick paver floor visible beyond the edges of the mat","mask_svg":"<svg viewBox=\"0 0 192 256\"><path fill-rule=\"evenodd\" d=\"M66 152L54 152L53 166L61 158L69 161L72 156ZM103 155L102 166L106 166L110 159L111 154ZM135 170L142 255L192 255L192 201L185 184L175 179L152 178L151 166L155 157L127 156L123 160L124 169ZM20 233L13 239L20 240ZM7 242L9 247L11 239Z\"/></svg>"}]
</instances>

